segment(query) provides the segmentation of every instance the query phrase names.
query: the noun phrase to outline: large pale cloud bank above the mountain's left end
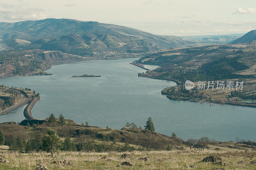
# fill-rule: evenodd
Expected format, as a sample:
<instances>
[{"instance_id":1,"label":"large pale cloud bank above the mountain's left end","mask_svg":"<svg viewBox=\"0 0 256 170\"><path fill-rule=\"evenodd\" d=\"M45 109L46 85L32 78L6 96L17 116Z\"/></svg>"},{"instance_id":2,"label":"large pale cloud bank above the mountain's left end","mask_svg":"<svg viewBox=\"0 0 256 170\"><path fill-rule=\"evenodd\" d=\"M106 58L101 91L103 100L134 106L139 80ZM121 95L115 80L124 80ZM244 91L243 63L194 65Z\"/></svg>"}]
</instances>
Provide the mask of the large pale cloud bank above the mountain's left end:
<instances>
[{"instance_id":1,"label":"large pale cloud bank above the mountain's left end","mask_svg":"<svg viewBox=\"0 0 256 170\"><path fill-rule=\"evenodd\" d=\"M32 8L28 4L9 5L0 3L1 21L21 21L48 18L41 8Z\"/></svg>"}]
</instances>

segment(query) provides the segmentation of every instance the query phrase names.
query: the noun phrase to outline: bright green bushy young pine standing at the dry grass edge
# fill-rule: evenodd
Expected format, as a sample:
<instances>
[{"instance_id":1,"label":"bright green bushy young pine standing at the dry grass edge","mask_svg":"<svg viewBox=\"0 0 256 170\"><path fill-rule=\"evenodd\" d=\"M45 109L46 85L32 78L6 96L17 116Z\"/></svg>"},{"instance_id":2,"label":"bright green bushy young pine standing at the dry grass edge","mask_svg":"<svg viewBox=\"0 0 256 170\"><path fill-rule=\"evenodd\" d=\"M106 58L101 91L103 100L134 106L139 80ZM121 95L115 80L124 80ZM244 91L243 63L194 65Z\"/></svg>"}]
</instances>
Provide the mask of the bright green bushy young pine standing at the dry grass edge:
<instances>
[{"instance_id":1,"label":"bright green bushy young pine standing at the dry grass edge","mask_svg":"<svg viewBox=\"0 0 256 170\"><path fill-rule=\"evenodd\" d=\"M52 129L47 131L47 134L44 135L42 142L43 143L42 143L41 148L44 151L51 152L52 157L53 157L54 152L56 152L60 149L60 146L62 143L60 140L60 137L57 135L57 132Z\"/></svg>"}]
</instances>

